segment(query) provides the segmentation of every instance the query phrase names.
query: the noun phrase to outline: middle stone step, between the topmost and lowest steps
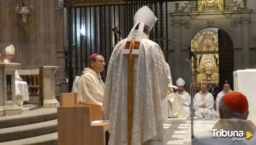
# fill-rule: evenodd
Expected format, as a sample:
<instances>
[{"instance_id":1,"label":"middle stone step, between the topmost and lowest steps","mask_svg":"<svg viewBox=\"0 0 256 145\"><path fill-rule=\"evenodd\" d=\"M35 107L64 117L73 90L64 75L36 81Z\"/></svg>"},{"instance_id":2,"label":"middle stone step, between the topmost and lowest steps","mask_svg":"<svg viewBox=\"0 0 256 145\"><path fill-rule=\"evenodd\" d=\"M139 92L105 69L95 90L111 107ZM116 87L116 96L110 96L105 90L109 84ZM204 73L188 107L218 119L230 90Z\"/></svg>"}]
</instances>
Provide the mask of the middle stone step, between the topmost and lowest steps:
<instances>
[{"instance_id":1,"label":"middle stone step, between the topmost and lowest steps","mask_svg":"<svg viewBox=\"0 0 256 145\"><path fill-rule=\"evenodd\" d=\"M15 141L58 132L57 119L29 125L0 129L0 142Z\"/></svg>"}]
</instances>

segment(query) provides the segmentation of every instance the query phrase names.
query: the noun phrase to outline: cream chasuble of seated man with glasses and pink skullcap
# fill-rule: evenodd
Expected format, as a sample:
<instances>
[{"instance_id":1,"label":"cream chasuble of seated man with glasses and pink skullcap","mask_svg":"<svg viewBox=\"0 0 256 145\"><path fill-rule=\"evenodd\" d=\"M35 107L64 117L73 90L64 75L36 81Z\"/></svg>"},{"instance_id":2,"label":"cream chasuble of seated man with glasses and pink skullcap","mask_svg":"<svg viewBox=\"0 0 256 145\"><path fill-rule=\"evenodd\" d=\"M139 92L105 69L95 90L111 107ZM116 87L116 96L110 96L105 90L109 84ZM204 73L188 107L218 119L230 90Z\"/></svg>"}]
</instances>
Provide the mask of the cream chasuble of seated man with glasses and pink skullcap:
<instances>
[{"instance_id":1,"label":"cream chasuble of seated man with glasses and pink skullcap","mask_svg":"<svg viewBox=\"0 0 256 145\"><path fill-rule=\"evenodd\" d=\"M101 76L92 69L85 68L77 83L77 103L102 106L104 88Z\"/></svg>"}]
</instances>

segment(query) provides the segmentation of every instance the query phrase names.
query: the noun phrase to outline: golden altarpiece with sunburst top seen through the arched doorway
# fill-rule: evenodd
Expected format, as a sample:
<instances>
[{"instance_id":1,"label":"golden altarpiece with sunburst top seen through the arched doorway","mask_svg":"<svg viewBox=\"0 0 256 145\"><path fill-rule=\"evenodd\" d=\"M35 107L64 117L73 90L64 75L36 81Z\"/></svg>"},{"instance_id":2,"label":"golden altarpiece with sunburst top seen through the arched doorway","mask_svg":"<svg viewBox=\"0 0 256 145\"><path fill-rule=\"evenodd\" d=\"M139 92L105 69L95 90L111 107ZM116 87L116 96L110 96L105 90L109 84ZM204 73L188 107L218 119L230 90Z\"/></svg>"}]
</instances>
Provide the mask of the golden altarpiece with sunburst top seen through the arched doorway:
<instances>
[{"instance_id":1,"label":"golden altarpiece with sunburst top seen through the arched doorway","mask_svg":"<svg viewBox=\"0 0 256 145\"><path fill-rule=\"evenodd\" d=\"M219 54L218 33L203 31L196 34L191 40L191 50L197 56L197 65L193 64L193 72L197 76L193 78L196 87L202 82L215 82L219 84Z\"/></svg>"}]
</instances>

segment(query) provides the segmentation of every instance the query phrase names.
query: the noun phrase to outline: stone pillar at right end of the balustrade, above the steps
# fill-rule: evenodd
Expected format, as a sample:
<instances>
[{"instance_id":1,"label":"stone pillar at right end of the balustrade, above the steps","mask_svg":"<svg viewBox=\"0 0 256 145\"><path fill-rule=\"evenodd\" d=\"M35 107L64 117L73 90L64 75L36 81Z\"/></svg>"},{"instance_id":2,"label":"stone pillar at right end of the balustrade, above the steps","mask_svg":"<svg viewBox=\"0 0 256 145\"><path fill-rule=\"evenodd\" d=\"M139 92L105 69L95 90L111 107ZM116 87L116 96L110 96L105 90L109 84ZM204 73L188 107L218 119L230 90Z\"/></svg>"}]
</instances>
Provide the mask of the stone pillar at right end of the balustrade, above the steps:
<instances>
[{"instance_id":1,"label":"stone pillar at right end of the balustrade, above the steps","mask_svg":"<svg viewBox=\"0 0 256 145\"><path fill-rule=\"evenodd\" d=\"M59 107L59 102L55 98L55 73L57 69L57 66L43 66L42 81L44 108Z\"/></svg>"}]
</instances>

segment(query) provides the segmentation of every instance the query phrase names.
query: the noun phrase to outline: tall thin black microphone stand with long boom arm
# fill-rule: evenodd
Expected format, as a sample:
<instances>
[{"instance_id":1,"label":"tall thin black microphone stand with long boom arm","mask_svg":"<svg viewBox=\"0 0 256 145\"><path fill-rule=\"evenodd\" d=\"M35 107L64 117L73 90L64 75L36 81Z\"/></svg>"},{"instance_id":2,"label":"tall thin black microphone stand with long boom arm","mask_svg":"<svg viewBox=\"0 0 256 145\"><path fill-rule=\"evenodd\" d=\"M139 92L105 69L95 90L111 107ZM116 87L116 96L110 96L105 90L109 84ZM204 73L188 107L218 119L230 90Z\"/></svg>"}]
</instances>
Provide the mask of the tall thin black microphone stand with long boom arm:
<instances>
[{"instance_id":1,"label":"tall thin black microphone stand with long boom arm","mask_svg":"<svg viewBox=\"0 0 256 145\"><path fill-rule=\"evenodd\" d=\"M155 40L171 40L177 43L180 43L182 45L185 45L189 51L189 62L190 62L190 96L191 96L191 105L190 105L190 117L191 117L191 141L193 140L193 138L195 137L194 135L194 90L193 90L193 68L192 68L192 57L194 57L195 61L197 62L197 57L195 56L195 54L191 51L191 47L187 46L186 44L176 41L176 40L172 40L169 38L161 38L161 39L155 39ZM155 41L153 40L153 41ZM197 63L196 63L197 65Z\"/></svg>"}]
</instances>

